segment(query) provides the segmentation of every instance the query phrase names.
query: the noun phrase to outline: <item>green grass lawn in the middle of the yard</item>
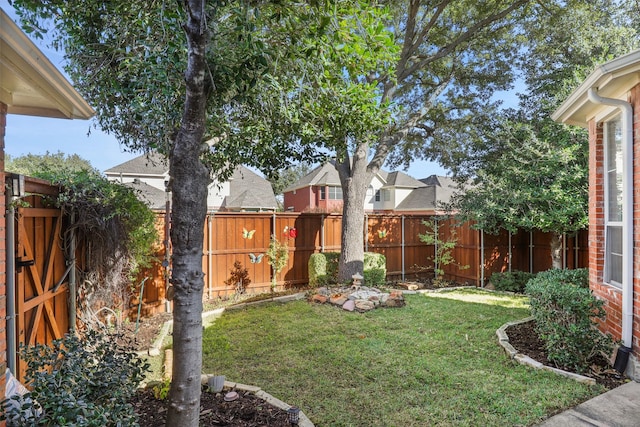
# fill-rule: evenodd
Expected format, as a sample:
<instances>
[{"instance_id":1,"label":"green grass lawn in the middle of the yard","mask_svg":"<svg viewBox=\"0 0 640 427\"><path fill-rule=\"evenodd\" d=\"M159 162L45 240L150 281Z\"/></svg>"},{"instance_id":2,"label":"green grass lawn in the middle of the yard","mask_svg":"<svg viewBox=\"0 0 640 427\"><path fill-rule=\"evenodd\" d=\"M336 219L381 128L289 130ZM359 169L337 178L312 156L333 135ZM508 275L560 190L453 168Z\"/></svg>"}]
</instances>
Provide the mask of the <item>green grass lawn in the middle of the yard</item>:
<instances>
[{"instance_id":1,"label":"green grass lawn in the middle of the yard","mask_svg":"<svg viewBox=\"0 0 640 427\"><path fill-rule=\"evenodd\" d=\"M306 301L227 311L203 371L298 405L318 426L527 426L603 390L521 366L495 335L526 299L475 290L408 295L350 313Z\"/></svg>"}]
</instances>

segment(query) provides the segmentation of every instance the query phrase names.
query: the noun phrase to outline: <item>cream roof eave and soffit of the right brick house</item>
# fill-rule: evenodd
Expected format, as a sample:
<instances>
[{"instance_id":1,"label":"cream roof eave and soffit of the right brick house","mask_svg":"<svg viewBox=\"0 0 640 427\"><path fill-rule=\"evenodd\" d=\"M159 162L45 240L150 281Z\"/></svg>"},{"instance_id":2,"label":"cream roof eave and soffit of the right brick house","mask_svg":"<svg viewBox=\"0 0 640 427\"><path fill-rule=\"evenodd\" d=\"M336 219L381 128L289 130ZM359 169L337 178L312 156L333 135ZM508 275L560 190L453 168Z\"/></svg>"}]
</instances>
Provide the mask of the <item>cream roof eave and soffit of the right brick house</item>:
<instances>
[{"instance_id":1,"label":"cream roof eave and soffit of the right brick house","mask_svg":"<svg viewBox=\"0 0 640 427\"><path fill-rule=\"evenodd\" d=\"M589 89L598 95L626 101L627 91L638 84L640 50L635 50L597 67L587 79L551 115L558 122L587 127L596 114L606 114L602 105L589 100Z\"/></svg>"}]
</instances>

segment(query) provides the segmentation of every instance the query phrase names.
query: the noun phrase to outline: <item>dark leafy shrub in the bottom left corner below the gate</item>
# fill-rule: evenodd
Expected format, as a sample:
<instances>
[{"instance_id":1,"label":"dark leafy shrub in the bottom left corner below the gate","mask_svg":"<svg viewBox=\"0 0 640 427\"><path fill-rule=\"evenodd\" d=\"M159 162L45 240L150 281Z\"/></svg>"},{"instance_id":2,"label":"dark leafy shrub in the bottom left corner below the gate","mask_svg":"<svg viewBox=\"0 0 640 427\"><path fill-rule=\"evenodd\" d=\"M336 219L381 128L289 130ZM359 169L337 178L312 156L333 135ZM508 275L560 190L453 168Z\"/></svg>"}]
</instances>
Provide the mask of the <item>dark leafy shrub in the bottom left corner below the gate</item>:
<instances>
[{"instance_id":1,"label":"dark leafy shrub in the bottom left corner below the gate","mask_svg":"<svg viewBox=\"0 0 640 427\"><path fill-rule=\"evenodd\" d=\"M0 419L11 420L9 425L135 425L129 400L148 364L121 340L89 331L82 338L67 334L50 346L23 347L33 401L12 407L5 399Z\"/></svg>"}]
</instances>

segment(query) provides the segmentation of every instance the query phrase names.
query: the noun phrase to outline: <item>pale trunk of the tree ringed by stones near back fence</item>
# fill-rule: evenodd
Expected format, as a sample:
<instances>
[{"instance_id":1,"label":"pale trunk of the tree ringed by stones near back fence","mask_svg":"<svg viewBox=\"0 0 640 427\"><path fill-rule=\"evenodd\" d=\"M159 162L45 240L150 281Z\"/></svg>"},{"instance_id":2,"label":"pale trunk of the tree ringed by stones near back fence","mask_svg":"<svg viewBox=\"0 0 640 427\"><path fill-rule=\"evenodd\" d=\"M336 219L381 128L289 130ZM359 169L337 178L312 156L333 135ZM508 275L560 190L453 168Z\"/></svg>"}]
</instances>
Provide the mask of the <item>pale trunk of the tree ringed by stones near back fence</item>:
<instances>
[{"instance_id":1,"label":"pale trunk of the tree ringed by stones near back fence","mask_svg":"<svg viewBox=\"0 0 640 427\"><path fill-rule=\"evenodd\" d=\"M367 153L361 144L349 161L348 156L336 162L342 185L342 252L338 266L338 280L351 281L355 273L363 274L364 266L364 197L369 186Z\"/></svg>"}]
</instances>

